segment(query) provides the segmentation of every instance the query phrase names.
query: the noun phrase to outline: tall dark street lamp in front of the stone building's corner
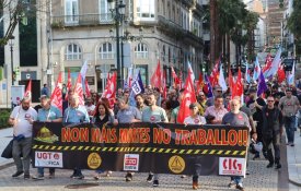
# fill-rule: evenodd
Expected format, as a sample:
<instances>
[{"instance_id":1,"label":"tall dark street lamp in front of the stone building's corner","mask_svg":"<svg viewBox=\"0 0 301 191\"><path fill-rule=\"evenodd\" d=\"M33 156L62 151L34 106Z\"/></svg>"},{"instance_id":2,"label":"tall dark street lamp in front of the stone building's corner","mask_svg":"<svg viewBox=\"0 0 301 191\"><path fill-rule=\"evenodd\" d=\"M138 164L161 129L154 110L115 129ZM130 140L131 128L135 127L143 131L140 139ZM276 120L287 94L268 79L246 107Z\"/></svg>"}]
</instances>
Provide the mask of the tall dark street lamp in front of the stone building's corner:
<instances>
[{"instance_id":1,"label":"tall dark street lamp in front of the stone building's corner","mask_svg":"<svg viewBox=\"0 0 301 191\"><path fill-rule=\"evenodd\" d=\"M121 65L120 65L120 39L119 39L119 25L124 21L124 15L126 12L126 4L123 1L118 0L107 0L109 4L109 11L115 21L116 27L116 59L117 59L117 87L121 87Z\"/></svg>"}]
</instances>

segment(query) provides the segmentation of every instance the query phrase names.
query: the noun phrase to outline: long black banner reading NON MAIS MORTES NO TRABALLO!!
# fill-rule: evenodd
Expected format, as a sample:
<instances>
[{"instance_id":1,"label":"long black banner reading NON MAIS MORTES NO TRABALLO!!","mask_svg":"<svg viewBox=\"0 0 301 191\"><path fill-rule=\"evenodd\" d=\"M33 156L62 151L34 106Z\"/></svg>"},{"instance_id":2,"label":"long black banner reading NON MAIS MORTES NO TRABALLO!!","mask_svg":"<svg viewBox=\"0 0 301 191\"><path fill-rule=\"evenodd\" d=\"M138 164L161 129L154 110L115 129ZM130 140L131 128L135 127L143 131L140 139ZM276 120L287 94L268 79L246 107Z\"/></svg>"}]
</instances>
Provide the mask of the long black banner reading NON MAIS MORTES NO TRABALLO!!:
<instances>
[{"instance_id":1,"label":"long black banner reading NON MAIS MORTES NO TRABALLO!!","mask_svg":"<svg viewBox=\"0 0 301 191\"><path fill-rule=\"evenodd\" d=\"M248 129L173 123L35 122L33 166L245 176Z\"/></svg>"}]
</instances>

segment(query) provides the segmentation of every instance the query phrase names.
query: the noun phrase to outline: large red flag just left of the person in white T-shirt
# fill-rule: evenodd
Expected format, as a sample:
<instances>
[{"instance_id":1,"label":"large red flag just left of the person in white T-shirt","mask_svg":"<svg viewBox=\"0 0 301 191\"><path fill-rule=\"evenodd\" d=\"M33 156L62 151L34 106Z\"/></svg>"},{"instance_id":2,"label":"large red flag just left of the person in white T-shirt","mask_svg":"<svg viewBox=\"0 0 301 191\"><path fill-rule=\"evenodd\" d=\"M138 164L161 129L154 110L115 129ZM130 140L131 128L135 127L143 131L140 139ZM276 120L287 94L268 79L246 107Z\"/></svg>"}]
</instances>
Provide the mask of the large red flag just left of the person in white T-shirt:
<instances>
[{"instance_id":1,"label":"large red flag just left of the person in white T-shirt","mask_svg":"<svg viewBox=\"0 0 301 191\"><path fill-rule=\"evenodd\" d=\"M194 84L192 79L187 76L185 82L185 91L183 93L183 99L180 105L180 112L177 115L176 121L183 123L184 119L189 116L189 105L196 103L196 94L194 89Z\"/></svg>"}]
</instances>

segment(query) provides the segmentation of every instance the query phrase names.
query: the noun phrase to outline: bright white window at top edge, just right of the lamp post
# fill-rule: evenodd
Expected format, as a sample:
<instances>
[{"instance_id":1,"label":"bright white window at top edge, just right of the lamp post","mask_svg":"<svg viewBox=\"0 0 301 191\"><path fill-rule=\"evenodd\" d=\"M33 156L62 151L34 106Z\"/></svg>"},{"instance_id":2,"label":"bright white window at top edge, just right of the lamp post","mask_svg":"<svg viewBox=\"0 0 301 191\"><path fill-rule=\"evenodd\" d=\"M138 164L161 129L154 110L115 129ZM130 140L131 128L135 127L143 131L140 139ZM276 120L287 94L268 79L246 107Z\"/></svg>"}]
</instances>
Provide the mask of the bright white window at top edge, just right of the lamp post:
<instances>
[{"instance_id":1,"label":"bright white window at top edge, just right of the lamp post","mask_svg":"<svg viewBox=\"0 0 301 191\"><path fill-rule=\"evenodd\" d=\"M154 21L154 0L137 0L136 11L141 21Z\"/></svg>"}]
</instances>

